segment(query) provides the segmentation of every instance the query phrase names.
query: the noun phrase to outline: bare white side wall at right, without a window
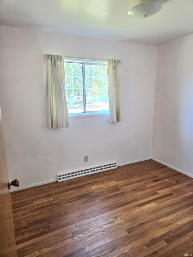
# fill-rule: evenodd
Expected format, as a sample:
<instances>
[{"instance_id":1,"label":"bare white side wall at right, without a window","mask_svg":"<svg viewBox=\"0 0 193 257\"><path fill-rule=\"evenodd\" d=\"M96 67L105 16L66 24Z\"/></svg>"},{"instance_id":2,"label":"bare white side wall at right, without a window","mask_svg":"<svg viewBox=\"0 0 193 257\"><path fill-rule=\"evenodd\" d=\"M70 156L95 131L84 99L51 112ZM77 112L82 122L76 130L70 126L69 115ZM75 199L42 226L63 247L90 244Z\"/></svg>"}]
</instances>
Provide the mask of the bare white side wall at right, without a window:
<instances>
[{"instance_id":1,"label":"bare white side wall at right, without a window","mask_svg":"<svg viewBox=\"0 0 193 257\"><path fill-rule=\"evenodd\" d=\"M158 46L152 157L193 177L193 35Z\"/></svg>"}]
</instances>

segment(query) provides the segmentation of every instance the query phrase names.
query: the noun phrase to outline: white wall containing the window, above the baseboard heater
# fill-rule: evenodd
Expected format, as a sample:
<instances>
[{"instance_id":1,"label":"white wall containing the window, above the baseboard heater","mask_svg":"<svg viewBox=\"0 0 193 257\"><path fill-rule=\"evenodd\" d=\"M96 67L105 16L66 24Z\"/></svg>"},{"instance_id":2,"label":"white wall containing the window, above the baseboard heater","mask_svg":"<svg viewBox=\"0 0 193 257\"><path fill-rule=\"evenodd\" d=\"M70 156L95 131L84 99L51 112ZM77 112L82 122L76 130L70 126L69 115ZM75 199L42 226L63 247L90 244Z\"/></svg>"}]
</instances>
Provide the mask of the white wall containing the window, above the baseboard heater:
<instances>
[{"instance_id":1,"label":"white wall containing the window, above the baseboard heater","mask_svg":"<svg viewBox=\"0 0 193 257\"><path fill-rule=\"evenodd\" d=\"M26 186L57 172L150 158L157 47L1 26L0 102L11 179ZM71 118L48 129L44 54L121 59L121 123ZM88 155L88 163L84 163Z\"/></svg>"}]
</instances>

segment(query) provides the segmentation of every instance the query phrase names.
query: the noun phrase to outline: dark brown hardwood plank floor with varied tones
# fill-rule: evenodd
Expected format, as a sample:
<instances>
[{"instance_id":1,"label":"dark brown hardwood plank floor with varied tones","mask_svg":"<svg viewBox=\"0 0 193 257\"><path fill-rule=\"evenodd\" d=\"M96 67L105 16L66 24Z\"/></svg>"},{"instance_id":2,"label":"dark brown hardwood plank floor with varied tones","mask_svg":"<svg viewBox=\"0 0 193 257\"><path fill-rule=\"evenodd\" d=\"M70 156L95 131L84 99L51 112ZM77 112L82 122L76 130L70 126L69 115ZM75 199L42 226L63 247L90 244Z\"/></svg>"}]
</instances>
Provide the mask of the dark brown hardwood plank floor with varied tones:
<instances>
[{"instance_id":1,"label":"dark brown hardwood plank floor with varied tones","mask_svg":"<svg viewBox=\"0 0 193 257\"><path fill-rule=\"evenodd\" d=\"M11 198L18 257L193 254L193 179L153 160Z\"/></svg>"}]
</instances>

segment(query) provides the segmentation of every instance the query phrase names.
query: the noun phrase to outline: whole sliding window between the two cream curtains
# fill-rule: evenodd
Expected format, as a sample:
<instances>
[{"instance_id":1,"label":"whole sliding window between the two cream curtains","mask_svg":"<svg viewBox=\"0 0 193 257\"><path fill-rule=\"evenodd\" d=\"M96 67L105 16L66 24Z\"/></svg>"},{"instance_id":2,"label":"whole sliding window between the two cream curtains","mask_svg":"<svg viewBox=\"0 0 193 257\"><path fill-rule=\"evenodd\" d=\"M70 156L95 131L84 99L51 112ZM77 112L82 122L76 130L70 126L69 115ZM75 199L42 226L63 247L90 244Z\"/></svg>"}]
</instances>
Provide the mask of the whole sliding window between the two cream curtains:
<instances>
[{"instance_id":1,"label":"whole sliding window between the two cream curtains","mask_svg":"<svg viewBox=\"0 0 193 257\"><path fill-rule=\"evenodd\" d=\"M108 114L107 61L65 58L68 114Z\"/></svg>"}]
</instances>

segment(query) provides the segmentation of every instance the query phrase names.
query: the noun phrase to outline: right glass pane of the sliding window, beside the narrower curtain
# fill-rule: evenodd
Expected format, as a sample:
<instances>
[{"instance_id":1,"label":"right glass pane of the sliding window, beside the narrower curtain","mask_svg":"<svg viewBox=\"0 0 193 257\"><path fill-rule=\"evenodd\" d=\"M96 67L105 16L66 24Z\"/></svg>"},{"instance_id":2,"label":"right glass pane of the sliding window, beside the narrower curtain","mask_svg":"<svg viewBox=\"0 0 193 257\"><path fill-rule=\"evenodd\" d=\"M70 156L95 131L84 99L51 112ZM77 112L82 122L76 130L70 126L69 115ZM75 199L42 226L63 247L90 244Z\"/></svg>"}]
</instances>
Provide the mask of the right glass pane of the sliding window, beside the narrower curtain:
<instances>
[{"instance_id":1,"label":"right glass pane of the sliding window, beside the narrower curtain","mask_svg":"<svg viewBox=\"0 0 193 257\"><path fill-rule=\"evenodd\" d=\"M85 64L86 111L109 110L107 66Z\"/></svg>"}]
</instances>

